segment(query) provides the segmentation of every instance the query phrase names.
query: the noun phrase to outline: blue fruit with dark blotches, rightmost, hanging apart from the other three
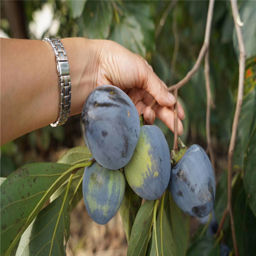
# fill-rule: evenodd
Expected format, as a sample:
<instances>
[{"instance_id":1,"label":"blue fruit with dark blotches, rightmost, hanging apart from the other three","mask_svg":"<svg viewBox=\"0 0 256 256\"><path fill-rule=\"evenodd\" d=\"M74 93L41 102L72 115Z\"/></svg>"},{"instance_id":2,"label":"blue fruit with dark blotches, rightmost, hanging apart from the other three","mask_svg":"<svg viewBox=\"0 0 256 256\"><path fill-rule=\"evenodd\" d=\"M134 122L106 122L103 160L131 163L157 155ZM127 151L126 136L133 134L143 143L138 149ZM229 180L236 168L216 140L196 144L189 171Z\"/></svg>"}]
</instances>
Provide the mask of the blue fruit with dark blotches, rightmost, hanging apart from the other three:
<instances>
[{"instance_id":1,"label":"blue fruit with dark blotches, rightmost, hanging apart from the other three","mask_svg":"<svg viewBox=\"0 0 256 256\"><path fill-rule=\"evenodd\" d=\"M189 147L172 168L169 190L179 208L191 216L204 217L212 211L215 177L202 147Z\"/></svg>"}]
</instances>

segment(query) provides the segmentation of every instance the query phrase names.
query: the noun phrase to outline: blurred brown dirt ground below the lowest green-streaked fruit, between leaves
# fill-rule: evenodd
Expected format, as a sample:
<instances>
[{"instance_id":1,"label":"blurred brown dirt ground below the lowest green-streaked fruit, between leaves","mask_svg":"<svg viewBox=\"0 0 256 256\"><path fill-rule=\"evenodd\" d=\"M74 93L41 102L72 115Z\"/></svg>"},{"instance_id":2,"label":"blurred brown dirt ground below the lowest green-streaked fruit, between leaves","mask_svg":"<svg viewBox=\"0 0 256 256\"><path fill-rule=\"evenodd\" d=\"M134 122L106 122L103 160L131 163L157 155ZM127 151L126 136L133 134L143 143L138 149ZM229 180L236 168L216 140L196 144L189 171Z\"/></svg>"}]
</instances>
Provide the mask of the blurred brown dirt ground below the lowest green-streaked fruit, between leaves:
<instances>
[{"instance_id":1,"label":"blurred brown dirt ground below the lowest green-streaked fruit, between leaves","mask_svg":"<svg viewBox=\"0 0 256 256\"><path fill-rule=\"evenodd\" d=\"M106 225L95 223L81 200L71 213L67 256L125 256L127 242L119 212Z\"/></svg>"}]
</instances>

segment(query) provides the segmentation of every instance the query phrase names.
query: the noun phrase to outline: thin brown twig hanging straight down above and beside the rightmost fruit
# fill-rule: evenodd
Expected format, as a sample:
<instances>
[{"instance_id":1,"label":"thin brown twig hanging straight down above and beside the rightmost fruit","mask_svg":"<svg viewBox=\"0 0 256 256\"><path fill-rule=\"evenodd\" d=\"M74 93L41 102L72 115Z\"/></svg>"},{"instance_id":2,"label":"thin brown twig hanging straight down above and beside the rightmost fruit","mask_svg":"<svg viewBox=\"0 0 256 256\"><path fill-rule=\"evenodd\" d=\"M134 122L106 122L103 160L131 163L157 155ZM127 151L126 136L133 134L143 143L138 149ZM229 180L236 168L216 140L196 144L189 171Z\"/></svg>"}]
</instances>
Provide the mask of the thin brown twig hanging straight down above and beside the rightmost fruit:
<instances>
[{"instance_id":1,"label":"thin brown twig hanging straight down above and beside the rightmost fruit","mask_svg":"<svg viewBox=\"0 0 256 256\"><path fill-rule=\"evenodd\" d=\"M205 128L206 128L206 139L207 139L207 149L210 154L212 167L214 171L215 181L216 181L216 172L215 172L215 165L214 165L214 156L212 151L212 142L211 142L211 125L210 125L210 116L211 116L211 103L212 94L211 94L211 85L210 85L210 67L209 67L209 49L206 51L204 56L204 77L205 77L205 88L206 88L206 95L207 95L207 107L206 107L206 121L205 121Z\"/></svg>"}]
</instances>

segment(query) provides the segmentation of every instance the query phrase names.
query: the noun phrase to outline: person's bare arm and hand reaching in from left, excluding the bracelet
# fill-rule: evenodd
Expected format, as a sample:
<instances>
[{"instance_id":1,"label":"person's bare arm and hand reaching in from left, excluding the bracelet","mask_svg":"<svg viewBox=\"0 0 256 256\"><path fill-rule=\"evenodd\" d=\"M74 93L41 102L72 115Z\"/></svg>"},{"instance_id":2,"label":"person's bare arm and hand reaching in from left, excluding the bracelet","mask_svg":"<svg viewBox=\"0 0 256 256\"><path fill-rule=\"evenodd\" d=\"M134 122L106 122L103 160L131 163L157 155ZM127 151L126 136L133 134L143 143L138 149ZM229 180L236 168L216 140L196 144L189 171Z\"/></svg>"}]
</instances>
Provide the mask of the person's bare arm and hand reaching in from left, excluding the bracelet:
<instances>
[{"instance_id":1,"label":"person's bare arm and hand reaching in from left, excluding the bracelet","mask_svg":"<svg viewBox=\"0 0 256 256\"><path fill-rule=\"evenodd\" d=\"M139 114L153 96L160 105L156 116L173 130L174 101L168 100L166 85L141 57L108 40L66 38L61 42L70 67L70 115L81 113L96 86L113 84L126 91ZM58 75L51 46L40 40L1 38L1 144L55 122L58 113ZM181 106L179 113L183 118ZM144 115L146 123L153 123L154 111L147 108ZM182 130L179 120L179 133Z\"/></svg>"}]
</instances>

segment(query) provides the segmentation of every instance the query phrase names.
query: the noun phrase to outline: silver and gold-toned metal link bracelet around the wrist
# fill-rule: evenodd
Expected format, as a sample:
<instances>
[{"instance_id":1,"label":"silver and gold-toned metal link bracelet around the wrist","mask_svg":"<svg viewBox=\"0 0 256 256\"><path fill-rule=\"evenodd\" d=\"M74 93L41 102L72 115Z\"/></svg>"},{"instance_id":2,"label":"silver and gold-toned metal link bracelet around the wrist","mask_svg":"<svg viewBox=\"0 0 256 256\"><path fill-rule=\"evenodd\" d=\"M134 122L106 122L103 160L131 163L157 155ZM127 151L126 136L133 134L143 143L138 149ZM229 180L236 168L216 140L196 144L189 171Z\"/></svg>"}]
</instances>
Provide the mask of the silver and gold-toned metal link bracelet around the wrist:
<instances>
[{"instance_id":1,"label":"silver and gold-toned metal link bracelet around the wrist","mask_svg":"<svg viewBox=\"0 0 256 256\"><path fill-rule=\"evenodd\" d=\"M57 71L59 76L60 104L59 116L52 127L63 125L67 122L70 112L71 82L69 74L69 63L66 51L58 38L45 38L43 41L51 44L56 56Z\"/></svg>"}]
</instances>

